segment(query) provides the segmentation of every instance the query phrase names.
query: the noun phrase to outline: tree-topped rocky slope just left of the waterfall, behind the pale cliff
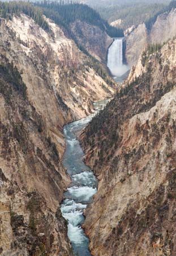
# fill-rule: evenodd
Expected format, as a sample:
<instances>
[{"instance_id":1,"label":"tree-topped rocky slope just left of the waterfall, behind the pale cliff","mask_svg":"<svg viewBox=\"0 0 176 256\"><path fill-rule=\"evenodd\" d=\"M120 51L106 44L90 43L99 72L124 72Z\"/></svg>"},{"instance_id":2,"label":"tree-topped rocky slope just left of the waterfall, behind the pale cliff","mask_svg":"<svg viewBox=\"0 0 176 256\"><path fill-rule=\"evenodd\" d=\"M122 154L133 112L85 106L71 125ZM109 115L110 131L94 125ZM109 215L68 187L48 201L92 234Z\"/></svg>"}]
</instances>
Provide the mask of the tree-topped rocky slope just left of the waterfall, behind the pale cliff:
<instances>
[{"instance_id":1,"label":"tree-topped rocky slope just left of the waterfall, behind the pale cliff","mask_svg":"<svg viewBox=\"0 0 176 256\"><path fill-rule=\"evenodd\" d=\"M59 22L66 34L74 39L76 44L106 64L106 52L113 42L114 36L123 36L123 30L114 28L102 19L91 7L82 3L62 5L59 2L41 2L38 5L44 8L44 14ZM55 17L57 15L57 17Z\"/></svg>"}]
</instances>

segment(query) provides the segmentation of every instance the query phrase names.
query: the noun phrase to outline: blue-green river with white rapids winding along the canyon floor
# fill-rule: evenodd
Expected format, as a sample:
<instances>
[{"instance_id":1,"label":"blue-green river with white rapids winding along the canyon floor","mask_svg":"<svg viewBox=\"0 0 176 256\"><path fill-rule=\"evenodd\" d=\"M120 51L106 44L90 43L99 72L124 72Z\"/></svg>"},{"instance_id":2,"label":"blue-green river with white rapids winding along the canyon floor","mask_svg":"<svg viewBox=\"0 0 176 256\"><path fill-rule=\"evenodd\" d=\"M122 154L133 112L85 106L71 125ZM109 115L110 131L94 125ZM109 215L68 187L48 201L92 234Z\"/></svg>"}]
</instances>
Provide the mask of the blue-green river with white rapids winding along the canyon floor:
<instances>
[{"instance_id":1,"label":"blue-green river with white rapids winding along the canyon floor","mask_svg":"<svg viewBox=\"0 0 176 256\"><path fill-rule=\"evenodd\" d=\"M95 113L104 108L108 101L97 102L95 104ZM68 222L68 237L76 256L91 256L88 248L89 240L85 236L81 224L84 222L84 209L87 204L91 203L92 197L97 191L96 177L83 162L84 152L76 138L76 134L91 121L95 113L79 121L69 123L64 127L66 151L63 157L63 166L67 169L72 182L64 193L65 200L61 205L61 212Z\"/></svg>"}]
</instances>

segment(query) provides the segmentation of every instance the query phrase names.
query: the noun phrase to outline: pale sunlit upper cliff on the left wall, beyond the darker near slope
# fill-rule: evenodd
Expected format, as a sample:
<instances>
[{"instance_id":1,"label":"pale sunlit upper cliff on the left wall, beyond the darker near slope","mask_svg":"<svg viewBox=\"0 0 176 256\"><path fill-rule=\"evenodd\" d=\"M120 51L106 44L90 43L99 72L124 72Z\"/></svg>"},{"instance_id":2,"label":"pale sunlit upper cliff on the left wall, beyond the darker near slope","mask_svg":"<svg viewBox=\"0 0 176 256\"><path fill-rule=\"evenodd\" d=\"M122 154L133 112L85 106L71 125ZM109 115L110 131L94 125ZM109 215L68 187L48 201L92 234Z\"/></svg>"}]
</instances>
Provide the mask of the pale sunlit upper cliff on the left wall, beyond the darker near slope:
<instances>
[{"instance_id":1,"label":"pale sunlit upper cliff on the left wall, beyond the darker near slope","mask_svg":"<svg viewBox=\"0 0 176 256\"><path fill-rule=\"evenodd\" d=\"M90 67L88 57L61 28L48 22L52 35L23 14L8 22L2 19L1 53L22 73L29 101L62 154L63 125L91 113L93 101L108 97L114 89Z\"/></svg>"}]
</instances>

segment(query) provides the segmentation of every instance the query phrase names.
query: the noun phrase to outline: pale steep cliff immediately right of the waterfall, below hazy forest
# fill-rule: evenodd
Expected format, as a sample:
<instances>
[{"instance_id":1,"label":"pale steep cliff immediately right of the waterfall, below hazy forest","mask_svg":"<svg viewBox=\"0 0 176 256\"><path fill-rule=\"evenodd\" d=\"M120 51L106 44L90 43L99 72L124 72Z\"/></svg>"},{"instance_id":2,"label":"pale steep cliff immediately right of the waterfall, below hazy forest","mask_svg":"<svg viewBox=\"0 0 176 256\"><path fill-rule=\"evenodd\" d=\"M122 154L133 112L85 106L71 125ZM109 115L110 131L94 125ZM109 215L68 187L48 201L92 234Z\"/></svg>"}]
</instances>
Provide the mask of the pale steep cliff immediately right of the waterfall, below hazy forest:
<instances>
[{"instance_id":1,"label":"pale steep cliff immediately right of the waterfall, below hazy forest","mask_svg":"<svg viewBox=\"0 0 176 256\"><path fill-rule=\"evenodd\" d=\"M175 19L176 9L173 9L169 13L158 15L150 31L147 30L145 24L140 24L132 30L126 36L127 63L136 64L147 43L164 43L173 39L176 35Z\"/></svg>"}]
</instances>

